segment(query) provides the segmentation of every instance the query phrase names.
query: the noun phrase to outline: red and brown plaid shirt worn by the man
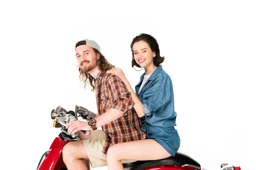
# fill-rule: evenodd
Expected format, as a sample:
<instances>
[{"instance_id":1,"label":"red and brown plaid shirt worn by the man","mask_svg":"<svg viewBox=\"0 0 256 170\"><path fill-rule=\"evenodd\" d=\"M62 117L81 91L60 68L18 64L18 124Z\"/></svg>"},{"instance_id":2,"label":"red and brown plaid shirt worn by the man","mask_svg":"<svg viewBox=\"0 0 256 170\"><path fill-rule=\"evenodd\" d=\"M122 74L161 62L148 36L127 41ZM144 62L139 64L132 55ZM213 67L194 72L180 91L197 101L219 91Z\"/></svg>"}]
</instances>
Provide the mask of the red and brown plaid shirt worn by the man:
<instances>
[{"instance_id":1,"label":"red and brown plaid shirt worn by the man","mask_svg":"<svg viewBox=\"0 0 256 170\"><path fill-rule=\"evenodd\" d=\"M99 116L110 108L124 112L124 115L102 126L108 135L102 153L107 154L108 148L113 144L145 139L145 133L140 130L142 123L137 116L131 98L131 93L115 74L102 72L94 82Z\"/></svg>"}]
</instances>

